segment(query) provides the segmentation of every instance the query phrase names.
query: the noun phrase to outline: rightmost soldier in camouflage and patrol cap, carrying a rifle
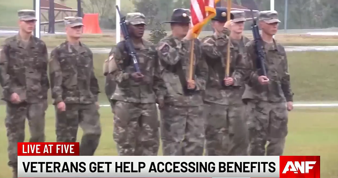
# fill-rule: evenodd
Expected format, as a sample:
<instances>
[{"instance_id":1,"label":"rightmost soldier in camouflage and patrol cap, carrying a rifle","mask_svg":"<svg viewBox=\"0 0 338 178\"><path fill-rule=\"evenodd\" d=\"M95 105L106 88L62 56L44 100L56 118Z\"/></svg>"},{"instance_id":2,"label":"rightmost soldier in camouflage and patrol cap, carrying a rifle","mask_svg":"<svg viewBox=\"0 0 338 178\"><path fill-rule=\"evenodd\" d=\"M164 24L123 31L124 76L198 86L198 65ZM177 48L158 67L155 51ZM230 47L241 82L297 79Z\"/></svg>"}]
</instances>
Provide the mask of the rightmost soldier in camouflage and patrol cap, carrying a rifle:
<instances>
[{"instance_id":1,"label":"rightmost soldier in camouflage and patrol cap, carrying a rifle","mask_svg":"<svg viewBox=\"0 0 338 178\"><path fill-rule=\"evenodd\" d=\"M288 133L287 111L293 109L293 93L285 49L273 39L279 22L276 11L259 13L267 76L261 75L260 66L256 65L255 42L246 45L252 68L243 94L247 102L250 155L265 155L265 151L266 155L282 155Z\"/></svg>"}]
</instances>

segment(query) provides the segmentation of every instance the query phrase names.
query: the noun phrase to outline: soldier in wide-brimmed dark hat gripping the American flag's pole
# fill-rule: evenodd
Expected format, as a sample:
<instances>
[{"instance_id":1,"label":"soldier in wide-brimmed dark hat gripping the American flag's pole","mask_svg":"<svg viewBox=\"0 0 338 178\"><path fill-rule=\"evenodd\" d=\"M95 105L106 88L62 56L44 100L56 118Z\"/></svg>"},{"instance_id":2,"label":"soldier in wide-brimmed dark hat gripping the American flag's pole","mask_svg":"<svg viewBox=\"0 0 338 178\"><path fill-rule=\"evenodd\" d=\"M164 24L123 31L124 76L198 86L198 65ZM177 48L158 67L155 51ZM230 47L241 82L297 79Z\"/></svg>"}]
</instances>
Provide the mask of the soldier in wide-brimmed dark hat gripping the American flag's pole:
<instances>
[{"instance_id":1,"label":"soldier in wide-brimmed dark hat gripping the American flag's pole","mask_svg":"<svg viewBox=\"0 0 338 178\"><path fill-rule=\"evenodd\" d=\"M202 93L208 65L200 41L189 30L189 9L175 9L170 23L172 35L158 44L161 77L166 95L161 110L163 155L202 155L204 119ZM189 80L191 44L194 42L193 80Z\"/></svg>"}]
</instances>

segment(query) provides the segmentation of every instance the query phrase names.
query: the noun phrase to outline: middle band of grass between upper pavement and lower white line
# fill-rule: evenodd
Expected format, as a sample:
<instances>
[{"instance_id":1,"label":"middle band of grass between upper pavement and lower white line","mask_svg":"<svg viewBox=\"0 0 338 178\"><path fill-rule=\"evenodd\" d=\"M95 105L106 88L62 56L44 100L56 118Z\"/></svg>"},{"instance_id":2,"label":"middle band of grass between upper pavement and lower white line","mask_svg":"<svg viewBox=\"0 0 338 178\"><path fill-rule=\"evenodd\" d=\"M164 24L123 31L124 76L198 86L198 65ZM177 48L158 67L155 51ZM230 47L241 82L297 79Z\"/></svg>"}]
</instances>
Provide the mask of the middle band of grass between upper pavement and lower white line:
<instances>
[{"instance_id":1,"label":"middle band of grass between upper pavement and lower white line","mask_svg":"<svg viewBox=\"0 0 338 178\"><path fill-rule=\"evenodd\" d=\"M287 55L295 101L338 101L338 52L288 52ZM94 54L95 74L101 90L100 103L108 103L102 72L107 57L108 54ZM50 92L48 94L50 98Z\"/></svg>"}]
</instances>

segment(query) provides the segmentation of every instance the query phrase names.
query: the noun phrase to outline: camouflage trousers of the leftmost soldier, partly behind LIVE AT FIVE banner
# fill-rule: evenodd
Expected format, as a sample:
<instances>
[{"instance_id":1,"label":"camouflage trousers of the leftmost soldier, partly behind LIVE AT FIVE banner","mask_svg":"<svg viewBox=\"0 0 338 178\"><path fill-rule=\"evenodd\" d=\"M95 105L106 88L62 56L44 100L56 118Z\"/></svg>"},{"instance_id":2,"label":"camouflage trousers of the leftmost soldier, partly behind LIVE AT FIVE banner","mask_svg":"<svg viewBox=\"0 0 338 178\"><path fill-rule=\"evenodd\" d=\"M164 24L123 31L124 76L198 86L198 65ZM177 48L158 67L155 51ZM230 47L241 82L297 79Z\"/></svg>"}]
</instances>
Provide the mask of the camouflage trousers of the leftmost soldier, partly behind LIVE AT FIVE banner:
<instances>
[{"instance_id":1,"label":"camouflage trousers of the leftmost soldier, partly behind LIVE AT FIVE banner","mask_svg":"<svg viewBox=\"0 0 338 178\"><path fill-rule=\"evenodd\" d=\"M25 141L25 120L27 118L30 132L29 142L45 142L45 112L47 101L41 103L7 102L5 126L8 139L8 166L17 171L18 142Z\"/></svg>"}]
</instances>

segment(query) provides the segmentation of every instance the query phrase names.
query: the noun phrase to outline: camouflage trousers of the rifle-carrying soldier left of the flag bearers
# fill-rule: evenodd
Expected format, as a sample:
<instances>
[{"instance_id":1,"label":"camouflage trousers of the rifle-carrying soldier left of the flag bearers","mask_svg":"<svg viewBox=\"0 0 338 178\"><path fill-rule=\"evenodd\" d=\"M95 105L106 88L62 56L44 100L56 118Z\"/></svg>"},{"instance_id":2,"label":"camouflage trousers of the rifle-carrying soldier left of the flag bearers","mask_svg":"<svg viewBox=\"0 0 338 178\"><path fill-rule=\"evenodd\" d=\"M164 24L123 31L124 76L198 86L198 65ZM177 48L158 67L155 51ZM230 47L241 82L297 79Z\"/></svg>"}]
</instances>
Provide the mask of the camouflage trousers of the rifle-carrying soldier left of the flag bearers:
<instances>
[{"instance_id":1,"label":"camouflage trousers of the rifle-carrying soldier left of the flag bearers","mask_svg":"<svg viewBox=\"0 0 338 178\"><path fill-rule=\"evenodd\" d=\"M113 138L120 156L156 156L160 146L156 104L116 101Z\"/></svg>"}]
</instances>

